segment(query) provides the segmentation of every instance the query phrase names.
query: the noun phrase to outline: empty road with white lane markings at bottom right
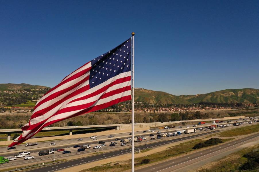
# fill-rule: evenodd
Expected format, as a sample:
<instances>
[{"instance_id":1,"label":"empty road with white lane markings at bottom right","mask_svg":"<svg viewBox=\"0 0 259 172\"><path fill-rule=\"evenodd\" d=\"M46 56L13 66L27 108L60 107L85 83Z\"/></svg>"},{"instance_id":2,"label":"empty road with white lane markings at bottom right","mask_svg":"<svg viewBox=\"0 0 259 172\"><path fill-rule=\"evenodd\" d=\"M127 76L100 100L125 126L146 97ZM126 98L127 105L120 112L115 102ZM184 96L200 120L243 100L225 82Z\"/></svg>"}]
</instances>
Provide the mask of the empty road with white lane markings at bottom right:
<instances>
[{"instance_id":1,"label":"empty road with white lane markings at bottom right","mask_svg":"<svg viewBox=\"0 0 259 172\"><path fill-rule=\"evenodd\" d=\"M191 165L192 163L198 162L200 160L210 158L213 155L220 156L220 153L227 151L229 149L233 149L234 147L239 146L240 144L244 144L249 142L251 139L258 138L259 134L254 134L252 136L248 136L242 139L234 140L231 142L220 144L216 147L207 148L205 150L201 150L195 153L191 153L182 157L178 157L169 161L163 161L159 163L155 163L152 165L144 166L135 169L136 172L170 172L173 170L177 170L181 167L185 167L186 165Z\"/></svg>"}]
</instances>

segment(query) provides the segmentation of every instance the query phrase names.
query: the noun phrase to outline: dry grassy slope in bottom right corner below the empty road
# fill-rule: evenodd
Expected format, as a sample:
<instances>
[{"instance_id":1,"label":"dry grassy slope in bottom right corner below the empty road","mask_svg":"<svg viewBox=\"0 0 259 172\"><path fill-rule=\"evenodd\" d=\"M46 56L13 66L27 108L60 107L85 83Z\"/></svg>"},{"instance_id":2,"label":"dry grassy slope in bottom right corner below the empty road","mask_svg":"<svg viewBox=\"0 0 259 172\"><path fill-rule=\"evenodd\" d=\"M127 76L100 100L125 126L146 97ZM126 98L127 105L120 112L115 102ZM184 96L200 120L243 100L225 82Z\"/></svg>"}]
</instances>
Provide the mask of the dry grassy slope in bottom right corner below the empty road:
<instances>
[{"instance_id":1,"label":"dry grassy slope in bottom right corner below the empty road","mask_svg":"<svg viewBox=\"0 0 259 172\"><path fill-rule=\"evenodd\" d=\"M232 153L223 159L206 164L206 167L201 168L195 172L258 172L259 169L255 170L240 170L239 167L248 161L247 158L243 157L244 154L258 150L259 145L252 148L245 148L235 153Z\"/></svg>"}]
</instances>

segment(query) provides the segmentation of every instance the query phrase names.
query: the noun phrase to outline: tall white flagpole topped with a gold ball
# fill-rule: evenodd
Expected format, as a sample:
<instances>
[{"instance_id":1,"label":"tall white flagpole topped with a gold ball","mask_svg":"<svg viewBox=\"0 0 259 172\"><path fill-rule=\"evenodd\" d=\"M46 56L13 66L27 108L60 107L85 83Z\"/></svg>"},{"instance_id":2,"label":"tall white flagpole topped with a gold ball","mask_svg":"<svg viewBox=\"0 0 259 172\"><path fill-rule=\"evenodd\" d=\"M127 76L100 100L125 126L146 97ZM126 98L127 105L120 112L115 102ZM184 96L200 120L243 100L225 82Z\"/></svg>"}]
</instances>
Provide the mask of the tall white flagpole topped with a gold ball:
<instances>
[{"instance_id":1,"label":"tall white flagpole topped with a gold ball","mask_svg":"<svg viewBox=\"0 0 259 172\"><path fill-rule=\"evenodd\" d=\"M134 35L132 32L132 172L134 172Z\"/></svg>"}]
</instances>

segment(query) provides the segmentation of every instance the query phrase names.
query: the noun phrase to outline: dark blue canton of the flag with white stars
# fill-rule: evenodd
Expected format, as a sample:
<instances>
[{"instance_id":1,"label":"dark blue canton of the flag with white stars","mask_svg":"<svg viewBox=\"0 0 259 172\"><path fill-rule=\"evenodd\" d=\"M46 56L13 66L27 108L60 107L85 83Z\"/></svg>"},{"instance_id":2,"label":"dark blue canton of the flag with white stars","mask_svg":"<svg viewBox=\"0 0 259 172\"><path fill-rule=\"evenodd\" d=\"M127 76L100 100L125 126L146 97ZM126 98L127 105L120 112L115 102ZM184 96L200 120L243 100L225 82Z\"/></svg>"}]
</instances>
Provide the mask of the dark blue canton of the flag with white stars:
<instances>
[{"instance_id":1,"label":"dark blue canton of the flag with white stars","mask_svg":"<svg viewBox=\"0 0 259 172\"><path fill-rule=\"evenodd\" d=\"M93 88L108 79L131 70L131 38L91 61L89 84Z\"/></svg>"}]
</instances>

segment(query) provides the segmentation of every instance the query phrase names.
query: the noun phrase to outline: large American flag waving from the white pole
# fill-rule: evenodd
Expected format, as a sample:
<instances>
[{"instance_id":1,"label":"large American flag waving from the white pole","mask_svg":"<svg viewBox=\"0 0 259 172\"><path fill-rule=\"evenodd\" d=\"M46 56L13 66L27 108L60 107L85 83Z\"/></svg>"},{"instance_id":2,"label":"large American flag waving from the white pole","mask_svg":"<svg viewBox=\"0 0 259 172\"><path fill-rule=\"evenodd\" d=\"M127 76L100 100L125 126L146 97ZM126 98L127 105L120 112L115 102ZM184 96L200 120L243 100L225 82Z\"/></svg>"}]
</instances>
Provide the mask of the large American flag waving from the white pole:
<instances>
[{"instance_id":1,"label":"large American flag waving from the white pole","mask_svg":"<svg viewBox=\"0 0 259 172\"><path fill-rule=\"evenodd\" d=\"M45 126L126 100L131 100L131 38L84 64L40 98L22 135L9 147Z\"/></svg>"}]
</instances>

